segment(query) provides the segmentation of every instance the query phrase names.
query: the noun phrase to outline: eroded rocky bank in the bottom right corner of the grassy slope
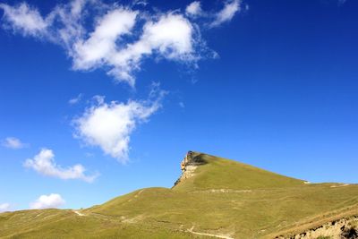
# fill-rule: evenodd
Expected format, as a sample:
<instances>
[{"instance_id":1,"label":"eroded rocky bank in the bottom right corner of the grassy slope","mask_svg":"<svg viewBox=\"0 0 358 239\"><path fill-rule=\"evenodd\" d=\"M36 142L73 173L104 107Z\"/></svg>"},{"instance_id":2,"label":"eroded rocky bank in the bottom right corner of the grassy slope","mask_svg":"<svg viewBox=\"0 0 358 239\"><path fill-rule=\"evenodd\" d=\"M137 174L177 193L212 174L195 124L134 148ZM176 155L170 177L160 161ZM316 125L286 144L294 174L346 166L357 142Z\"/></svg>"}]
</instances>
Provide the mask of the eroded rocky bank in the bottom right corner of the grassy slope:
<instances>
[{"instance_id":1,"label":"eroded rocky bank in the bottom right corner of the grassy slope","mask_svg":"<svg viewBox=\"0 0 358 239\"><path fill-rule=\"evenodd\" d=\"M277 236L277 239L358 239L358 216L341 218L312 228L298 235Z\"/></svg>"}]
</instances>

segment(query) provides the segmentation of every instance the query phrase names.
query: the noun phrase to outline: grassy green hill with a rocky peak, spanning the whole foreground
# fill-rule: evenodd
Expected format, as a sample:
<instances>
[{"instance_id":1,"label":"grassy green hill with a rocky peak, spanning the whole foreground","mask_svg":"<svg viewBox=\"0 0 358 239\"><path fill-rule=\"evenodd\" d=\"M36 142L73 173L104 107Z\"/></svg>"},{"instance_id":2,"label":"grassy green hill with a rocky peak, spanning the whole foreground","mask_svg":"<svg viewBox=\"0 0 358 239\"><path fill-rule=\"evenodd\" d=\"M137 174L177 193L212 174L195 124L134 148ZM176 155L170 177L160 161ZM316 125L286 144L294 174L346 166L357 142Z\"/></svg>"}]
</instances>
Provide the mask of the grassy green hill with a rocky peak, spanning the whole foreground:
<instances>
[{"instance_id":1,"label":"grassy green hill with a rocky peak, spanning the whole foreground","mask_svg":"<svg viewBox=\"0 0 358 239\"><path fill-rule=\"evenodd\" d=\"M1 238L355 238L357 184L309 184L189 151L168 188L0 214ZM332 236L332 237L327 237ZM351 236L351 237L350 237Z\"/></svg>"}]
</instances>

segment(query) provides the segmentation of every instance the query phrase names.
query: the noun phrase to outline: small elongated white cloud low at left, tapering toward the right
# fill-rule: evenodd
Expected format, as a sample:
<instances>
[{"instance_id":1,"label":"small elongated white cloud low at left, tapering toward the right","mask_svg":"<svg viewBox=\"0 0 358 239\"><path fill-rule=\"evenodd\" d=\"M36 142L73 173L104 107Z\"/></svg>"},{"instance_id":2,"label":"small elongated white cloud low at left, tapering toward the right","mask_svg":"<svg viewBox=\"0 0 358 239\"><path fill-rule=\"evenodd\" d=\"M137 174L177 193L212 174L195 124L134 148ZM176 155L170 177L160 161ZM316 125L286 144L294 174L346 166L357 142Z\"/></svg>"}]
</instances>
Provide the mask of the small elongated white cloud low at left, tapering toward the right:
<instances>
[{"instance_id":1,"label":"small elongated white cloud low at left, tapering toward the right","mask_svg":"<svg viewBox=\"0 0 358 239\"><path fill-rule=\"evenodd\" d=\"M34 157L26 159L25 167L34 169L41 175L58 177L61 179L81 179L85 182L93 182L98 175L85 175L86 169L81 165L63 168L55 163L55 155L51 149L41 149Z\"/></svg>"}]
</instances>

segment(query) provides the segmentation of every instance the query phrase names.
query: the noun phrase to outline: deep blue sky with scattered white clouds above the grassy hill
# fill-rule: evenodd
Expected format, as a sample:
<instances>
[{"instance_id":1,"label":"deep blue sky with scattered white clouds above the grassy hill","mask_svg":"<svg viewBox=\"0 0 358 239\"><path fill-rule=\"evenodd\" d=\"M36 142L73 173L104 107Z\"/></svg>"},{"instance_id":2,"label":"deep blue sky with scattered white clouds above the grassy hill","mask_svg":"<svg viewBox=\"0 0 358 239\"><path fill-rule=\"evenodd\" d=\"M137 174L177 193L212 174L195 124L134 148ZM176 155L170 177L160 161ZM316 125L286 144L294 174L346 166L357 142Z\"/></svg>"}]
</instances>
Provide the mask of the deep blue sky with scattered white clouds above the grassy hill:
<instances>
[{"instance_id":1,"label":"deep blue sky with scattered white clouds above the grassy hill","mask_svg":"<svg viewBox=\"0 0 358 239\"><path fill-rule=\"evenodd\" d=\"M187 150L357 183L356 1L0 2L0 210L171 187Z\"/></svg>"}]
</instances>

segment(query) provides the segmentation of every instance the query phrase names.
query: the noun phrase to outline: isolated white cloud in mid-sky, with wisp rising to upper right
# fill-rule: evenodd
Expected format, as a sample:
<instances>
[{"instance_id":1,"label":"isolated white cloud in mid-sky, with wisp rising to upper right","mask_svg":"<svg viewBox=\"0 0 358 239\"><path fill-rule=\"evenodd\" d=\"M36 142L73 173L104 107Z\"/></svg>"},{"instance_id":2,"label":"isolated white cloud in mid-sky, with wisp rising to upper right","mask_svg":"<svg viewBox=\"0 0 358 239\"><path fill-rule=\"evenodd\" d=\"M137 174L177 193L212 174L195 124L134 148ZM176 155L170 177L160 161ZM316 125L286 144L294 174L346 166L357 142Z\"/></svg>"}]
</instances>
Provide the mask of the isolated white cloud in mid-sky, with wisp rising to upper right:
<instances>
[{"instance_id":1,"label":"isolated white cloud in mid-sky, with wisp rising to upper right","mask_svg":"<svg viewBox=\"0 0 358 239\"><path fill-rule=\"evenodd\" d=\"M165 91L158 90L158 85L156 87L145 101L105 103L103 97L98 97L97 104L74 119L75 137L88 145L100 147L105 154L126 163L132 131L161 107L160 101Z\"/></svg>"}]
</instances>

